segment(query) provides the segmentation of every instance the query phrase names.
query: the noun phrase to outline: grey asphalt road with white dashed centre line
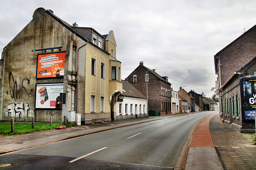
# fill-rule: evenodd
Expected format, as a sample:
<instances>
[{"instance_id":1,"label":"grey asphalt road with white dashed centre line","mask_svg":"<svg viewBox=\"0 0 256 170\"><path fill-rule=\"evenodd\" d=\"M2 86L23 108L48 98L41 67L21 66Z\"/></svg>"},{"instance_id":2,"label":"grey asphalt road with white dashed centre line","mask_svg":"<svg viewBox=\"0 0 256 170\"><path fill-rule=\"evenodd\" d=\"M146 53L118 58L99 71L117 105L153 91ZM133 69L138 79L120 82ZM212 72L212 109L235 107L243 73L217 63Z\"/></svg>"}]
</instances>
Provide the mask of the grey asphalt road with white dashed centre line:
<instances>
[{"instance_id":1,"label":"grey asphalt road with white dashed centre line","mask_svg":"<svg viewBox=\"0 0 256 170\"><path fill-rule=\"evenodd\" d=\"M173 169L194 126L216 111L160 119L3 154L8 169Z\"/></svg>"}]
</instances>

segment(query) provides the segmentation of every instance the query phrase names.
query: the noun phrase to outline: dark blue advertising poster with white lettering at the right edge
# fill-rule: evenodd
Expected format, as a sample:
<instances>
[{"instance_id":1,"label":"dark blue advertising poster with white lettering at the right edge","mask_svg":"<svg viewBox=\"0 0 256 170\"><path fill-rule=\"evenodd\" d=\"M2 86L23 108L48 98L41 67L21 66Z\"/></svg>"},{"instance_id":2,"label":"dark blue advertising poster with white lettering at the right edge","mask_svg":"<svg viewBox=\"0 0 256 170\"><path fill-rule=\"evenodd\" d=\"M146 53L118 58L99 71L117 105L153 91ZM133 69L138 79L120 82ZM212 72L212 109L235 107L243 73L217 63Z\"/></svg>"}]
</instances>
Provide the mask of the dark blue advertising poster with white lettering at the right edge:
<instances>
[{"instance_id":1,"label":"dark blue advertising poster with white lettering at the right edge","mask_svg":"<svg viewBox=\"0 0 256 170\"><path fill-rule=\"evenodd\" d=\"M241 78L242 96L244 105L243 119L255 119L256 113L256 76L246 76Z\"/></svg>"}]
</instances>

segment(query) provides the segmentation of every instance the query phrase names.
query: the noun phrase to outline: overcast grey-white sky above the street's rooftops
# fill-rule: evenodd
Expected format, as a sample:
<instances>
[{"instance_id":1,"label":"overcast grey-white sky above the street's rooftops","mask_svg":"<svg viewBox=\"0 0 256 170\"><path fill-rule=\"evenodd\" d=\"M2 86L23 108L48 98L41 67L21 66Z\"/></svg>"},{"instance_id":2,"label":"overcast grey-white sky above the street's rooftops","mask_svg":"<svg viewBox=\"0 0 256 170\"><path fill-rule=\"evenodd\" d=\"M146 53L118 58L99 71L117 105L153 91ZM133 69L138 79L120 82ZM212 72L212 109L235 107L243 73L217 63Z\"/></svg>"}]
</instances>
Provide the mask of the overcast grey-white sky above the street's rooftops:
<instances>
[{"instance_id":1,"label":"overcast grey-white sky above the street's rooftops","mask_svg":"<svg viewBox=\"0 0 256 170\"><path fill-rule=\"evenodd\" d=\"M114 31L122 79L139 65L173 90L215 86L214 55L256 25L256 0L0 0L0 53L42 7L70 25Z\"/></svg>"}]
</instances>

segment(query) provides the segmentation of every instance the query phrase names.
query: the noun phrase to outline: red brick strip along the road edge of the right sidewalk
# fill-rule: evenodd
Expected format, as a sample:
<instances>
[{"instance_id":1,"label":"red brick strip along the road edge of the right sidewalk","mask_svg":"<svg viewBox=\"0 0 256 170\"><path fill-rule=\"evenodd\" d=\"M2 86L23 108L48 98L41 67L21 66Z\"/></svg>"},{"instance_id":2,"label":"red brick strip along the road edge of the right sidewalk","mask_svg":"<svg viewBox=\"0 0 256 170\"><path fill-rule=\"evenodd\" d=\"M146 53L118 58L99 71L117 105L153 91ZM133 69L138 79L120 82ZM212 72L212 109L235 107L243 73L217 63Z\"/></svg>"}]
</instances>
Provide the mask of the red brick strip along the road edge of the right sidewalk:
<instances>
[{"instance_id":1,"label":"red brick strip along the road edge of the right sidewalk","mask_svg":"<svg viewBox=\"0 0 256 170\"><path fill-rule=\"evenodd\" d=\"M194 130L190 147L214 147L209 129L209 122L216 113L204 118Z\"/></svg>"}]
</instances>

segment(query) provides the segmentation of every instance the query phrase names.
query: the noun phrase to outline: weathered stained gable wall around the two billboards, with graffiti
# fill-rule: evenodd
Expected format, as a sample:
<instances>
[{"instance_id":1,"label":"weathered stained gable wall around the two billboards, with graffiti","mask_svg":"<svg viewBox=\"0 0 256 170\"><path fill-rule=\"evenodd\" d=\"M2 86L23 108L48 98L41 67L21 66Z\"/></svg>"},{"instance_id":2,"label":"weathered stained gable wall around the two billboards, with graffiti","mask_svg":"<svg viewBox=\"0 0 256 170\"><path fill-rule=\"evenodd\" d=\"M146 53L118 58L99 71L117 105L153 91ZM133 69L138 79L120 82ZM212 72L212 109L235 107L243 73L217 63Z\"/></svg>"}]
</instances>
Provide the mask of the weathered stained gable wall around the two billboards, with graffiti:
<instances>
[{"instance_id":1,"label":"weathered stained gable wall around the two billboards, with graffiti","mask_svg":"<svg viewBox=\"0 0 256 170\"><path fill-rule=\"evenodd\" d=\"M37 54L42 51L31 51L59 46L66 50L73 37L71 31L45 13L44 17L35 16L6 46L2 120L31 121L34 116L35 121L49 121L52 115L53 121L61 121L61 110L35 109L36 83L63 82L63 78L36 80Z\"/></svg>"}]
</instances>

